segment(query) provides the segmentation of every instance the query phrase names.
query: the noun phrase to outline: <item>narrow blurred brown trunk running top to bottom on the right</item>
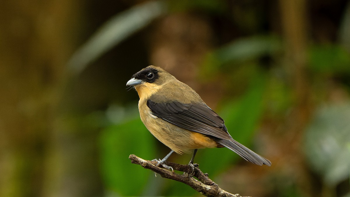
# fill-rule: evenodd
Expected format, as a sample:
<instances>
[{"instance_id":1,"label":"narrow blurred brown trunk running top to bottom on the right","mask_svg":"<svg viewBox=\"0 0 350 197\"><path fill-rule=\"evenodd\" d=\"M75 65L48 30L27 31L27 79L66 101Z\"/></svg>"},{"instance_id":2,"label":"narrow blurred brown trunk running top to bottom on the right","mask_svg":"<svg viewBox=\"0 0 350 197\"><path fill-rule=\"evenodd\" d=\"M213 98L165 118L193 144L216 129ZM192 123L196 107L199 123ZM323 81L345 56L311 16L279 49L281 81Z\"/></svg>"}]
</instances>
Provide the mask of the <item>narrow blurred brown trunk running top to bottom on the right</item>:
<instances>
[{"instance_id":1,"label":"narrow blurred brown trunk running top to bottom on the right","mask_svg":"<svg viewBox=\"0 0 350 197\"><path fill-rule=\"evenodd\" d=\"M286 133L281 139L283 147L283 165L293 170L293 175L299 188L305 196L312 194L309 173L304 165L302 157L302 136L308 123L310 111L310 84L307 75L307 47L308 47L308 16L307 1L305 0L280 0L280 13L282 35L285 40L286 54L283 63L285 65L289 82L294 93L294 107L286 117ZM291 160L290 158L294 158ZM296 173L295 173L296 172Z\"/></svg>"}]
</instances>

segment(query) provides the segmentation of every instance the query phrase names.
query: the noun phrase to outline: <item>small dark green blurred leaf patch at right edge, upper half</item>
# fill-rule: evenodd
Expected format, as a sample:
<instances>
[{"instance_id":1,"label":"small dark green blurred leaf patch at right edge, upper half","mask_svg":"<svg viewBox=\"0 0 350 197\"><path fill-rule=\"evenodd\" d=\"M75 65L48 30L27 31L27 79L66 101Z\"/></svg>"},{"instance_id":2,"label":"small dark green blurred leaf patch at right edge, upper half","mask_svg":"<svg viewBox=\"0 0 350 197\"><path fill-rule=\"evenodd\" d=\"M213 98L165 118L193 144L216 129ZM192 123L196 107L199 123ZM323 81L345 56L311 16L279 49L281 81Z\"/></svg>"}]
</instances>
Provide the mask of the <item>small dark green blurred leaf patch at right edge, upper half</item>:
<instances>
[{"instance_id":1,"label":"small dark green blurred leaf patch at right edge, upper half","mask_svg":"<svg viewBox=\"0 0 350 197\"><path fill-rule=\"evenodd\" d=\"M315 45L309 50L310 68L322 73L350 73L350 54L337 45Z\"/></svg>"}]
</instances>

